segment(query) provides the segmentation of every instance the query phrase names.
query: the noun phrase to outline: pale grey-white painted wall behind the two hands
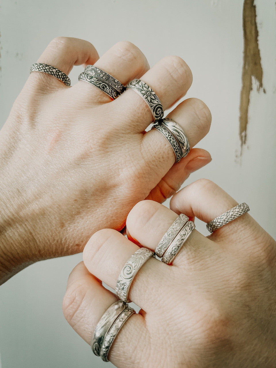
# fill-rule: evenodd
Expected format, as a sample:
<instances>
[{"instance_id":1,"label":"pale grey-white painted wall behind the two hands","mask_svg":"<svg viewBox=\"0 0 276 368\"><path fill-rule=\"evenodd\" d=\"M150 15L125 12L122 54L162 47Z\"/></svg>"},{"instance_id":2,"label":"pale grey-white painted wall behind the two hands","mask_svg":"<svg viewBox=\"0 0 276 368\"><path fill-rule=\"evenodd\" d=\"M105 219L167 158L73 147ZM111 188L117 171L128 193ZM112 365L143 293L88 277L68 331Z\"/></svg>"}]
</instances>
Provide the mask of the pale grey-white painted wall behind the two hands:
<instances>
[{"instance_id":1,"label":"pale grey-white painted wall behind the two hands","mask_svg":"<svg viewBox=\"0 0 276 368\"><path fill-rule=\"evenodd\" d=\"M245 3L247 22L254 23L253 0ZM209 135L198 145L213 161L186 184L200 177L215 181L238 202L247 202L251 215L276 238L276 6L274 0L254 4L258 38L255 24L251 31L258 39L262 85L259 74L252 77L254 71L247 70L255 59L243 59L243 0L2 0L0 126L29 67L56 36L89 40L100 55L117 41L130 40L151 65L165 55L181 56L194 75L187 98L204 100L213 115ZM80 71L71 72L73 83ZM241 89L251 80L241 150ZM245 110L247 105L243 101ZM207 234L204 224L197 227ZM2 368L112 366L92 355L62 314L67 276L80 260L74 255L37 263L0 287Z\"/></svg>"}]
</instances>

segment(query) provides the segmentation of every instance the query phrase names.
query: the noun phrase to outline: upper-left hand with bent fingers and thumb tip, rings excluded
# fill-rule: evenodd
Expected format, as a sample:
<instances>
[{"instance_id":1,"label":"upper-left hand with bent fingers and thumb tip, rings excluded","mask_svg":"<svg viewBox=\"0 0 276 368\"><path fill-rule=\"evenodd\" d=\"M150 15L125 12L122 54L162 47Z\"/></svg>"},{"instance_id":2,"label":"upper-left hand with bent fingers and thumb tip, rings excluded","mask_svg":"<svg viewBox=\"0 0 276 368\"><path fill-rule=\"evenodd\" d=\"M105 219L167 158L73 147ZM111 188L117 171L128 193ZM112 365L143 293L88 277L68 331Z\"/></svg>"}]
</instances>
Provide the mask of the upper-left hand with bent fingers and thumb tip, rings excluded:
<instances>
[{"instance_id":1,"label":"upper-left hand with bent fingers and thumb tip, rings excluded","mask_svg":"<svg viewBox=\"0 0 276 368\"><path fill-rule=\"evenodd\" d=\"M124 85L142 78L164 109L190 88L192 75L180 57L165 57L151 70L142 52L119 42L98 61L84 40L54 39L38 62L68 74L95 64ZM195 145L210 127L208 107L198 99L180 103L170 117ZM81 252L96 230L120 230L141 199L162 201L191 171L210 161L194 149L180 163L158 131L145 133L152 114L128 89L111 102L84 81L67 87L33 72L0 135L0 283L24 266Z\"/></svg>"}]
</instances>

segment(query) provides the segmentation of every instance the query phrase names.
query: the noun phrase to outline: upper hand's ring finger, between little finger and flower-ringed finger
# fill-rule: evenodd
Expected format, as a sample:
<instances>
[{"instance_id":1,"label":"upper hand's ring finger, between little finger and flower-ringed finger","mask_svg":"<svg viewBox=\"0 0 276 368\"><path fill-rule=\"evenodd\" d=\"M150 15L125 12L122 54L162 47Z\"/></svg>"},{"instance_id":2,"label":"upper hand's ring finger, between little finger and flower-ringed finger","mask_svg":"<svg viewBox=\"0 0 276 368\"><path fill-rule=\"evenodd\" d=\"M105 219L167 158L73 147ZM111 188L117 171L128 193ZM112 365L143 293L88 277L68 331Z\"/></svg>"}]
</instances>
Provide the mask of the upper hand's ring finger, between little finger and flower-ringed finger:
<instances>
[{"instance_id":1,"label":"upper hand's ring finger, between little finger and flower-ringed finger","mask_svg":"<svg viewBox=\"0 0 276 368\"><path fill-rule=\"evenodd\" d=\"M118 79L123 85L127 85L132 79L140 78L149 69L145 55L128 41L116 43L94 65ZM105 92L85 81L79 81L73 91L88 104L112 100Z\"/></svg>"}]
</instances>

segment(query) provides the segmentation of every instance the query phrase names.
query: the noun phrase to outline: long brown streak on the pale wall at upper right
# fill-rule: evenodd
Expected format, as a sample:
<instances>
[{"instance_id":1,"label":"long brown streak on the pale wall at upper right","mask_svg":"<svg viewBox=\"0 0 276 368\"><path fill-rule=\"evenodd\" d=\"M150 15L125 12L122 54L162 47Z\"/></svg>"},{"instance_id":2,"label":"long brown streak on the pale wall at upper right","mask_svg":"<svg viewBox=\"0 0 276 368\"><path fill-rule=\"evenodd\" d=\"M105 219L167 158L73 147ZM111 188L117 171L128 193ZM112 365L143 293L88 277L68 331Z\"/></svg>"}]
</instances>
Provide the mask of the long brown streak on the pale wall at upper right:
<instances>
[{"instance_id":1,"label":"long brown streak on the pale wall at upper right","mask_svg":"<svg viewBox=\"0 0 276 368\"><path fill-rule=\"evenodd\" d=\"M243 36L244 60L240 101L241 153L247 141L248 107L253 77L257 82L257 91L259 92L260 89L263 89L263 70L258 43L259 32L256 22L256 6L254 5L254 0L244 0ZM263 92L265 93L265 89L263 89Z\"/></svg>"}]
</instances>

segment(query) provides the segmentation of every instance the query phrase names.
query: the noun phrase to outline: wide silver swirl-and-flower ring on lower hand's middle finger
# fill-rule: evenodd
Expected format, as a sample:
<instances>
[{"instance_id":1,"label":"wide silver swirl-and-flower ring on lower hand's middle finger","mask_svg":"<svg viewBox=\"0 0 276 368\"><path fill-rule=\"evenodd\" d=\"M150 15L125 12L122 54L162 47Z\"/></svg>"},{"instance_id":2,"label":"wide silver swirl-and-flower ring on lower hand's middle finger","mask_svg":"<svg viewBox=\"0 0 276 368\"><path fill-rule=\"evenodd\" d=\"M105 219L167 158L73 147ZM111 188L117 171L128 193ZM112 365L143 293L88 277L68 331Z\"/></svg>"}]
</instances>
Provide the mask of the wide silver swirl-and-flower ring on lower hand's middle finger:
<instances>
[{"instance_id":1,"label":"wide silver swirl-and-flower ring on lower hand's middle finger","mask_svg":"<svg viewBox=\"0 0 276 368\"><path fill-rule=\"evenodd\" d=\"M154 253L147 248L139 248L130 259L125 263L116 283L115 293L125 302L130 302L128 299L128 291L130 290L131 283L134 276L139 269L148 261Z\"/></svg>"}]
</instances>

